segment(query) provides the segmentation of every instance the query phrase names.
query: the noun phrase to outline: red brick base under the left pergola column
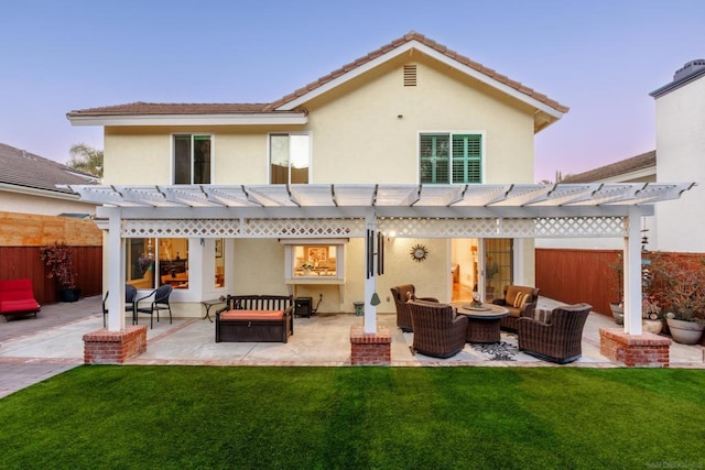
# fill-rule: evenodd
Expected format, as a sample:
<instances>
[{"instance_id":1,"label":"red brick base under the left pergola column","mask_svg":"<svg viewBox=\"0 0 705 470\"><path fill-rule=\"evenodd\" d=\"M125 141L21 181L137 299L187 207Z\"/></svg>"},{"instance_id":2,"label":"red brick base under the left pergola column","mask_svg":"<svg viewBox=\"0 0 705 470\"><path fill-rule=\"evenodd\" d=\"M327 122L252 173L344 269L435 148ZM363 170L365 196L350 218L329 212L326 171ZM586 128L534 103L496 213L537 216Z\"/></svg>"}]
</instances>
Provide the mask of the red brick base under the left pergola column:
<instances>
[{"instance_id":1,"label":"red brick base under the left pergola column","mask_svg":"<svg viewBox=\"0 0 705 470\"><path fill-rule=\"evenodd\" d=\"M147 351L147 327L129 326L122 331L99 329L84 335L84 363L121 364Z\"/></svg>"}]
</instances>

